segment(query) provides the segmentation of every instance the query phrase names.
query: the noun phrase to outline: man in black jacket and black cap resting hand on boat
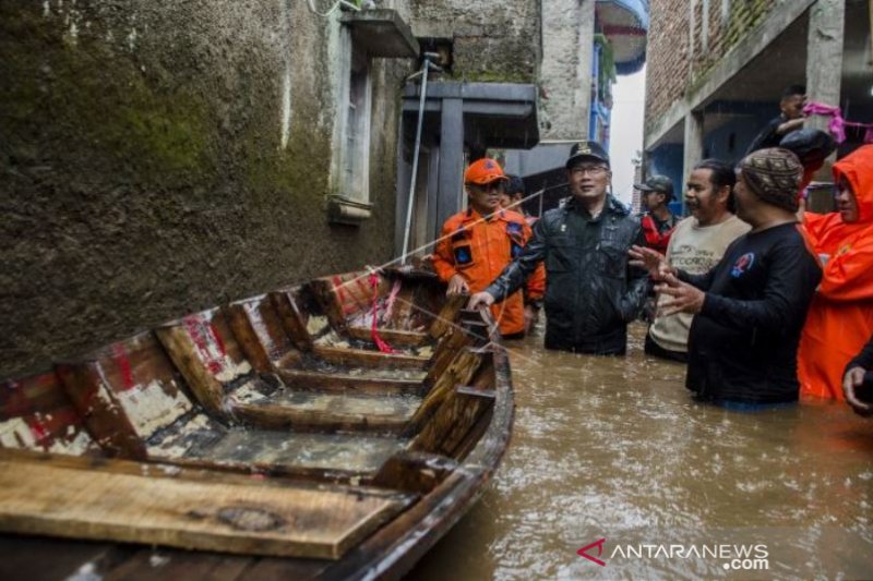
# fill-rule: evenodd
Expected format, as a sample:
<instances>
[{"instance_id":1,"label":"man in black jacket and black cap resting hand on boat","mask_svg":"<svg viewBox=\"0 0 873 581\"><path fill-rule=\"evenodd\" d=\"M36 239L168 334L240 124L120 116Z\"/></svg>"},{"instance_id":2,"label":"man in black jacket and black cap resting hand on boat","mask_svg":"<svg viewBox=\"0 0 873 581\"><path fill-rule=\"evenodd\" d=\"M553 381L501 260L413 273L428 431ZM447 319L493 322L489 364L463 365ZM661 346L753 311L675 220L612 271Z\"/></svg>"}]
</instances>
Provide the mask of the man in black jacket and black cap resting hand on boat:
<instances>
[{"instance_id":1,"label":"man in black jacket and black cap resting hand on boat","mask_svg":"<svg viewBox=\"0 0 873 581\"><path fill-rule=\"evenodd\" d=\"M646 296L646 271L627 264L629 249L645 243L643 231L607 194L612 172L598 143L574 145L566 172L573 196L542 215L524 252L469 307L503 300L545 261L546 348L621 355Z\"/></svg>"}]
</instances>

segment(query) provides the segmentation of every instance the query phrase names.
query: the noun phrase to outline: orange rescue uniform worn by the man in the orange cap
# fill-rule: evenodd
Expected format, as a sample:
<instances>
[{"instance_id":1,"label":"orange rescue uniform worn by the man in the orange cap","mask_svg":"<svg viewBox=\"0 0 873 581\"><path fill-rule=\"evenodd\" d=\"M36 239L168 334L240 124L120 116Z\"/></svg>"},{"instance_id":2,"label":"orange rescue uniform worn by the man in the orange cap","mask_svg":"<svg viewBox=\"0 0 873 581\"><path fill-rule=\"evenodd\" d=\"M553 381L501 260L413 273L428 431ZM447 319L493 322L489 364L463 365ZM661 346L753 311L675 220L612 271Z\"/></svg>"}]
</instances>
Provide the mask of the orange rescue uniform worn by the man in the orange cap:
<instances>
[{"instance_id":1,"label":"orange rescue uniform worn by the man in the orange cap","mask_svg":"<svg viewBox=\"0 0 873 581\"><path fill-rule=\"evenodd\" d=\"M530 239L530 227L524 216L499 210L486 220L473 208L459 211L443 225L440 242L433 253L433 268L445 282L461 275L470 292L483 291L518 254ZM545 270L538 268L527 283L527 295L539 300L546 291ZM522 291L491 305L491 314L503 336L525 330Z\"/></svg>"}]
</instances>

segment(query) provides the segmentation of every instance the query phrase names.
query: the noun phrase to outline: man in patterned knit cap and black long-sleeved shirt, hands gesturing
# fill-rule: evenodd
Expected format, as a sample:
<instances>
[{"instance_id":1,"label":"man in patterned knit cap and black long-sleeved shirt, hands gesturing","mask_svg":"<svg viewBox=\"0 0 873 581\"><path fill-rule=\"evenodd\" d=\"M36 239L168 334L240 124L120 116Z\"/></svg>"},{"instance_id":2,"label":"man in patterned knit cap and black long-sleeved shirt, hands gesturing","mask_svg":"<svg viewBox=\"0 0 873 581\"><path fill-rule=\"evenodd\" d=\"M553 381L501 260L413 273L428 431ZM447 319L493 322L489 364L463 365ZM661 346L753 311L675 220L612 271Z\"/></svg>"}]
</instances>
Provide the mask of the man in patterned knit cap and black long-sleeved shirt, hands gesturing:
<instances>
[{"instance_id":1,"label":"man in patterned knit cap and black long-sleeved shirt, hands gesturing","mask_svg":"<svg viewBox=\"0 0 873 581\"><path fill-rule=\"evenodd\" d=\"M779 148L740 162L737 215L752 230L704 275L669 268L649 249L632 252L632 264L645 264L672 296L665 314L696 315L685 386L705 400L748 408L798 399L800 331L822 279L794 217L802 171L797 156Z\"/></svg>"}]
</instances>

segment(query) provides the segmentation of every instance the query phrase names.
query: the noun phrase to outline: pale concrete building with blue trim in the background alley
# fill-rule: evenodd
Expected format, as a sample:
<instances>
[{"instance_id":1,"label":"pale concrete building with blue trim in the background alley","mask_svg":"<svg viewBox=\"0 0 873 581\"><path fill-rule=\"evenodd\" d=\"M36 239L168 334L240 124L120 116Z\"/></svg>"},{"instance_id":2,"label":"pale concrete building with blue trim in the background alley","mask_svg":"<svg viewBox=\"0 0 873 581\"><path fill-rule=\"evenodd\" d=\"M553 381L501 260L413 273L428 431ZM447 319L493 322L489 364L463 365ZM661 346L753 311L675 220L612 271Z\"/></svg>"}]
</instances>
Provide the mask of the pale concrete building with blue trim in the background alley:
<instances>
[{"instance_id":1,"label":"pale concrete building with blue trim in the background alley","mask_svg":"<svg viewBox=\"0 0 873 581\"><path fill-rule=\"evenodd\" d=\"M528 192L543 192L528 211L539 215L569 195L564 162L574 143L609 148L612 85L646 61L648 10L648 0L542 3L541 140L505 154L507 171L523 175Z\"/></svg>"}]
</instances>

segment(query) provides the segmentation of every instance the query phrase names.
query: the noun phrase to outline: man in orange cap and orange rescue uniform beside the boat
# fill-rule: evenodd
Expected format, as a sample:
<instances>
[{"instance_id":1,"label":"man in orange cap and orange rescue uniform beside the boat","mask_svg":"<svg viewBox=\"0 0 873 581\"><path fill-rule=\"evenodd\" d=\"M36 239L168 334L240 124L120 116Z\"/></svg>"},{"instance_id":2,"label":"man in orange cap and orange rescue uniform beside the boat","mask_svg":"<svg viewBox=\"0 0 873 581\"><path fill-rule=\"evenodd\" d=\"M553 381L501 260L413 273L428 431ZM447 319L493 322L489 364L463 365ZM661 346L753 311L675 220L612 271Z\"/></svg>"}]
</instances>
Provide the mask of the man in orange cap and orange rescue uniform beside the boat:
<instances>
[{"instance_id":1,"label":"man in orange cap and orange rescue uniform beside the boat","mask_svg":"<svg viewBox=\"0 0 873 581\"><path fill-rule=\"evenodd\" d=\"M464 173L469 207L445 221L432 257L436 275L449 283L449 294L483 290L530 239L525 217L500 205L505 181L500 164L489 158L474 161ZM527 290L528 296L538 300L545 292L545 281L536 278L530 277ZM524 336L525 305L521 290L492 305L491 314L503 338Z\"/></svg>"}]
</instances>

